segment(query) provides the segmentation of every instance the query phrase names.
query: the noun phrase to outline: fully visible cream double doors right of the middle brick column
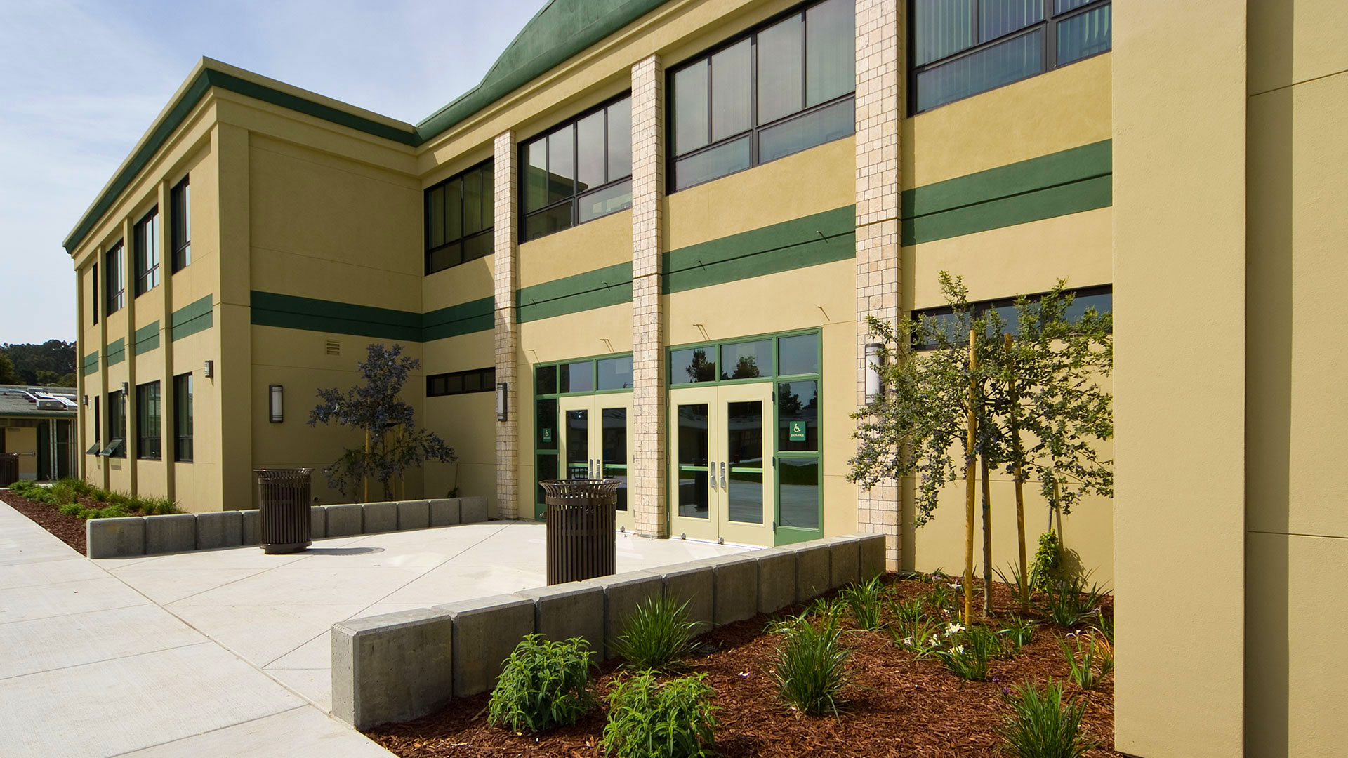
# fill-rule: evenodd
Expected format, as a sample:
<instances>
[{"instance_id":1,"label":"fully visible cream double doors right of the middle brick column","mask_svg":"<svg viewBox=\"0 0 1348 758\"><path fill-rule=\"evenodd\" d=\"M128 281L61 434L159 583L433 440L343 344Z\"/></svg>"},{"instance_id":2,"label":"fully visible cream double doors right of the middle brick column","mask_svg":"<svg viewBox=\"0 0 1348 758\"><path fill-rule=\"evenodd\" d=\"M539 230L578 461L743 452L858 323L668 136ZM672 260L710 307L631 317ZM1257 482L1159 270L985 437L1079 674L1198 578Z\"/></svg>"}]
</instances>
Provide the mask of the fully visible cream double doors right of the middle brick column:
<instances>
[{"instance_id":1,"label":"fully visible cream double doors right of the middle brick column","mask_svg":"<svg viewBox=\"0 0 1348 758\"><path fill-rule=\"evenodd\" d=\"M771 545L772 383L670 390L670 534Z\"/></svg>"}]
</instances>

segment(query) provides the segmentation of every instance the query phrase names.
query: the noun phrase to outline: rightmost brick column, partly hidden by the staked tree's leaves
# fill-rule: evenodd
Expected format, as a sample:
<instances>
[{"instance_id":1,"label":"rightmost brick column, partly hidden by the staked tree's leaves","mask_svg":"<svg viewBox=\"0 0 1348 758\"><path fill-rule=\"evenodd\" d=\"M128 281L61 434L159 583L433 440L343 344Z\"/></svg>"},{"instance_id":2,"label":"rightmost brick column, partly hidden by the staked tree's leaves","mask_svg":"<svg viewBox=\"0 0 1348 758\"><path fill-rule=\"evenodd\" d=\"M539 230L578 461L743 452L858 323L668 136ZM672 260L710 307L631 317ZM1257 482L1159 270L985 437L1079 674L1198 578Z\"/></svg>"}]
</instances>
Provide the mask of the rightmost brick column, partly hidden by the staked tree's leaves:
<instances>
[{"instance_id":1,"label":"rightmost brick column, partly hidden by the staked tree's leaves","mask_svg":"<svg viewBox=\"0 0 1348 758\"><path fill-rule=\"evenodd\" d=\"M899 317L898 0L856 0L856 398L865 403L865 318ZM861 531L886 535L886 566L899 568L899 487L884 482L857 499Z\"/></svg>"}]
</instances>

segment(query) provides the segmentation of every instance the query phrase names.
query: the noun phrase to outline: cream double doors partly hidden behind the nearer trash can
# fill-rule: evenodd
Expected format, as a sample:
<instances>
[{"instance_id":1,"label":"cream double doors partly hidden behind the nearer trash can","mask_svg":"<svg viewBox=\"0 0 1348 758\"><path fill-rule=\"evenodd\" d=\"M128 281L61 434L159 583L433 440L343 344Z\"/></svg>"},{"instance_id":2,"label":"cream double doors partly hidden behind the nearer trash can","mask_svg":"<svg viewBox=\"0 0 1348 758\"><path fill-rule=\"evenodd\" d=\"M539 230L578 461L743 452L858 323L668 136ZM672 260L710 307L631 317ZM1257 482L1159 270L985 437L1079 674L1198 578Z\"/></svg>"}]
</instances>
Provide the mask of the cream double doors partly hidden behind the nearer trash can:
<instances>
[{"instance_id":1,"label":"cream double doors partly hidden behind the nearer trash can","mask_svg":"<svg viewBox=\"0 0 1348 758\"><path fill-rule=\"evenodd\" d=\"M636 521L627 502L627 467L632 460L632 394L561 398L557 410L562 417L562 477L616 479L617 526L632 531Z\"/></svg>"}]
</instances>

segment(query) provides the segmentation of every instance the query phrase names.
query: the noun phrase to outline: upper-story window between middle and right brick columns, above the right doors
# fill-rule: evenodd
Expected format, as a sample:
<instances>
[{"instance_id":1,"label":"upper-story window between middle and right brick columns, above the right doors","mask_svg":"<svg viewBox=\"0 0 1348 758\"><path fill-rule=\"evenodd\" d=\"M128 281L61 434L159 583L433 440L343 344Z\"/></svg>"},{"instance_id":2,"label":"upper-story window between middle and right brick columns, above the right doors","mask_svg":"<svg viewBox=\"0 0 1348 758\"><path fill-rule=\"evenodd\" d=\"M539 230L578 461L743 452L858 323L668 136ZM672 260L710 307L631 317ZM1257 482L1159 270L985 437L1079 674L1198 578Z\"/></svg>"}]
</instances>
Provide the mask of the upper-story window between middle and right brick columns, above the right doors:
<instances>
[{"instance_id":1,"label":"upper-story window between middle and right brick columns, above the right doors","mask_svg":"<svg viewBox=\"0 0 1348 758\"><path fill-rule=\"evenodd\" d=\"M852 0L764 24L669 74L670 187L681 190L856 129Z\"/></svg>"}]
</instances>

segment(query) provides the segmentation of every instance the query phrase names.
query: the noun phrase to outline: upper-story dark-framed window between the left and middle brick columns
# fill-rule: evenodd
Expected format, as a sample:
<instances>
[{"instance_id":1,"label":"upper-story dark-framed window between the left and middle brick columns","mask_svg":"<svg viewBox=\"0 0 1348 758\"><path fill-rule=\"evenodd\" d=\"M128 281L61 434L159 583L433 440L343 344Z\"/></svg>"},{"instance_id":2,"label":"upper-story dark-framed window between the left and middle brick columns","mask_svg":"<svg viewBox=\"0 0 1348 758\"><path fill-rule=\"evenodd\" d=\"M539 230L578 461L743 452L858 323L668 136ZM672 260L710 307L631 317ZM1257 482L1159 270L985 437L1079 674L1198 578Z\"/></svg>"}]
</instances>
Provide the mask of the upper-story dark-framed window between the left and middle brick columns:
<instances>
[{"instance_id":1,"label":"upper-story dark-framed window between the left and middle brick columns","mask_svg":"<svg viewBox=\"0 0 1348 758\"><path fill-rule=\"evenodd\" d=\"M592 108L520 146L520 239L632 206L632 96Z\"/></svg>"}]
</instances>

